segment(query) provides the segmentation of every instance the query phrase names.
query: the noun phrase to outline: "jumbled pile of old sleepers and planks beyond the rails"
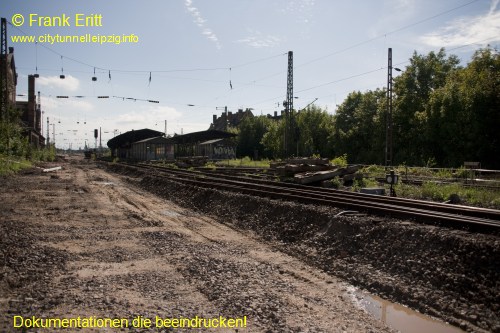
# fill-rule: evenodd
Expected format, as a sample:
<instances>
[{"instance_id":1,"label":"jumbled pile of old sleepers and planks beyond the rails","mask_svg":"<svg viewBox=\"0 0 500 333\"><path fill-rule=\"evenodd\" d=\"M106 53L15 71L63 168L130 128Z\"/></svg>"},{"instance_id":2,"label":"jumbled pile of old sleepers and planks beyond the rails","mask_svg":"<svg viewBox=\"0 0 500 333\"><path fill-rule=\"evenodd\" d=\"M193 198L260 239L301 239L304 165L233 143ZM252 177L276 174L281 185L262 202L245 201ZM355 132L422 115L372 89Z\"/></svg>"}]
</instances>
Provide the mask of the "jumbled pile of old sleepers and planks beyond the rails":
<instances>
[{"instance_id":1,"label":"jumbled pile of old sleepers and planks beyond the rails","mask_svg":"<svg viewBox=\"0 0 500 333\"><path fill-rule=\"evenodd\" d=\"M363 178L363 174L358 172L360 165L340 167L332 165L327 158L291 158L271 163L271 169L280 176L293 177L298 184L321 183L324 187L330 187L330 180L336 177L342 179L345 185Z\"/></svg>"}]
</instances>

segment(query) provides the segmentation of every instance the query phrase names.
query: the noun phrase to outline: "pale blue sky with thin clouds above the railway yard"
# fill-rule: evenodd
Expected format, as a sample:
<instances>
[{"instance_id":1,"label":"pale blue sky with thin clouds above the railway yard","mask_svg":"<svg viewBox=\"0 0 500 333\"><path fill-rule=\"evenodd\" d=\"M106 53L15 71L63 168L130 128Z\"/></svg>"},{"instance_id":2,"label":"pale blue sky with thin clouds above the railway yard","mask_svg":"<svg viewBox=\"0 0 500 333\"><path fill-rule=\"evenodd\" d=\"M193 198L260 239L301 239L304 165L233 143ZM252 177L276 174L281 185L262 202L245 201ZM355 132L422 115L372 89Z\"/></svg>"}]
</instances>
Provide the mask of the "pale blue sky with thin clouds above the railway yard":
<instances>
[{"instance_id":1,"label":"pale blue sky with thin clouds above the railway yard","mask_svg":"<svg viewBox=\"0 0 500 333\"><path fill-rule=\"evenodd\" d=\"M48 117L56 146L78 149L95 145L95 128L105 145L132 129L163 132L165 121L168 135L206 130L226 106L280 113L289 51L294 108L314 101L334 113L350 92L385 87L388 48L404 70L414 52L444 47L466 65L498 47L499 1L2 0L0 16L17 99L39 74L43 134ZM106 42L61 40L92 36Z\"/></svg>"}]
</instances>

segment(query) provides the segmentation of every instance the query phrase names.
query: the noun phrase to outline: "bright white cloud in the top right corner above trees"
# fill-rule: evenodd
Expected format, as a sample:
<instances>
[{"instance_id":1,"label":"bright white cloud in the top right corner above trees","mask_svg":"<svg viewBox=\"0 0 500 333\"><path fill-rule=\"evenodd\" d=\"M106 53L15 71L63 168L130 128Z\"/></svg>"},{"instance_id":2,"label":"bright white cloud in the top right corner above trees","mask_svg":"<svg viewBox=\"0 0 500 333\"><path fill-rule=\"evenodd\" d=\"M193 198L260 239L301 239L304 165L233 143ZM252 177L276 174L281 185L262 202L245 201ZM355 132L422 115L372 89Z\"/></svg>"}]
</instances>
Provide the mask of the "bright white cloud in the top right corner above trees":
<instances>
[{"instance_id":1,"label":"bright white cloud in the top right corner above trees","mask_svg":"<svg viewBox=\"0 0 500 333\"><path fill-rule=\"evenodd\" d=\"M492 1L488 14L451 21L438 31L422 36L421 41L432 47L454 47L499 41L500 12L495 12L498 2L498 0Z\"/></svg>"}]
</instances>

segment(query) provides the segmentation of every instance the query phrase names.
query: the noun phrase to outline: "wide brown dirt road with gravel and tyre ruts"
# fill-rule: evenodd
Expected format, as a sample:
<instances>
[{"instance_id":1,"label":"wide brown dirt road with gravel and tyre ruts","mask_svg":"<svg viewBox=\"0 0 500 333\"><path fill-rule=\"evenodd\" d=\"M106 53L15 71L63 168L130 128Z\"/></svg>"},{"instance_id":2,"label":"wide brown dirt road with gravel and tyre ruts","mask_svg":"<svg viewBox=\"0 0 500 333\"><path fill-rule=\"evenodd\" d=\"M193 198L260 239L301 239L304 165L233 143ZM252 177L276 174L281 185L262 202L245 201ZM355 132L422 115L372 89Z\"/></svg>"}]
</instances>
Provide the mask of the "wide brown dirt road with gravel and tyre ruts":
<instances>
[{"instance_id":1,"label":"wide brown dirt road with gravel and tyre ruts","mask_svg":"<svg viewBox=\"0 0 500 333\"><path fill-rule=\"evenodd\" d=\"M63 170L0 180L2 332L390 331L344 283L250 231L91 162L54 165ZM167 327L176 318L225 327ZM105 319L116 321L89 328ZM87 328L36 328L47 323Z\"/></svg>"}]
</instances>

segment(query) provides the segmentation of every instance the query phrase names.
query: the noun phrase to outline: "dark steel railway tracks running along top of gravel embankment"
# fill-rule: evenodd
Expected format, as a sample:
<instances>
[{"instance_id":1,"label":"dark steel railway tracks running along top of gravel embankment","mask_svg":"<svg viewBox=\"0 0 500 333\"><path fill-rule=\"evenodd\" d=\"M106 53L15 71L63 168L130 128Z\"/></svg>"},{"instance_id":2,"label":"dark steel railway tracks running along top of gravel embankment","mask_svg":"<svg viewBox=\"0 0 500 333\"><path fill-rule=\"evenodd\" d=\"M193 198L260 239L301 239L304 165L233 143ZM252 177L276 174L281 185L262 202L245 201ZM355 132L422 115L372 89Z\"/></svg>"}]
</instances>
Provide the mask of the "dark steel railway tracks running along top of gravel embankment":
<instances>
[{"instance_id":1,"label":"dark steel railway tracks running along top of gravel embankment","mask_svg":"<svg viewBox=\"0 0 500 333\"><path fill-rule=\"evenodd\" d=\"M423 223L465 228L473 231L500 230L500 210L449 205L421 200L393 198L363 193L310 187L217 171L188 171L149 164L123 164L126 167L153 171L156 177L182 184L239 192L305 204L335 206L348 210L412 219Z\"/></svg>"}]
</instances>

